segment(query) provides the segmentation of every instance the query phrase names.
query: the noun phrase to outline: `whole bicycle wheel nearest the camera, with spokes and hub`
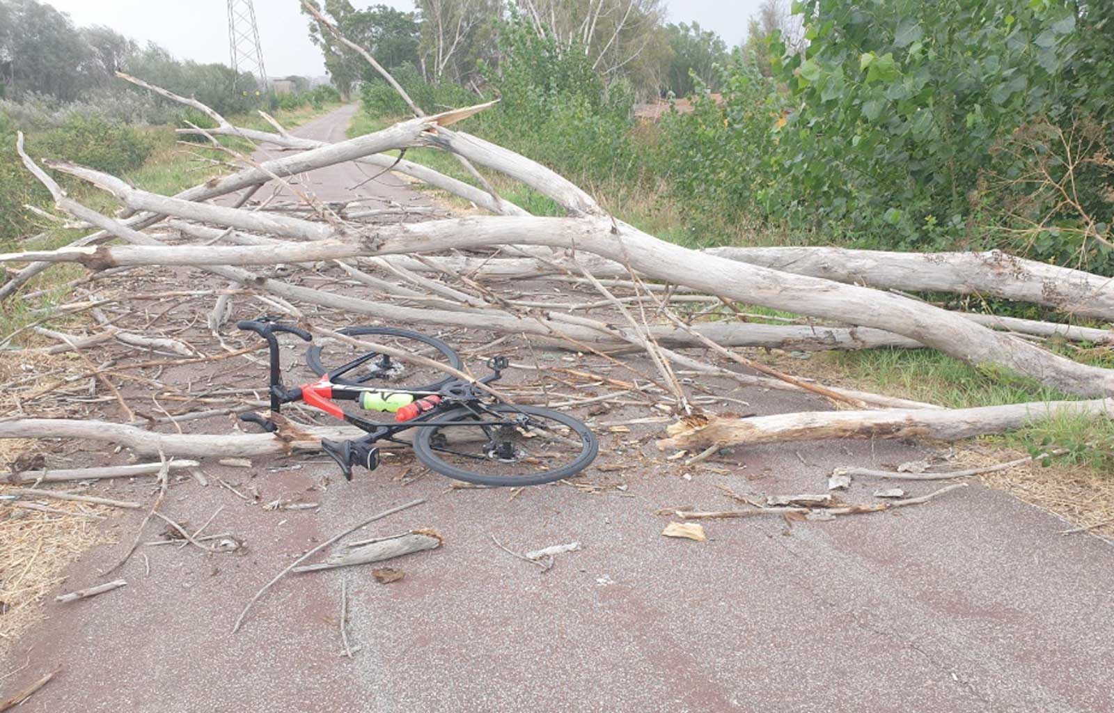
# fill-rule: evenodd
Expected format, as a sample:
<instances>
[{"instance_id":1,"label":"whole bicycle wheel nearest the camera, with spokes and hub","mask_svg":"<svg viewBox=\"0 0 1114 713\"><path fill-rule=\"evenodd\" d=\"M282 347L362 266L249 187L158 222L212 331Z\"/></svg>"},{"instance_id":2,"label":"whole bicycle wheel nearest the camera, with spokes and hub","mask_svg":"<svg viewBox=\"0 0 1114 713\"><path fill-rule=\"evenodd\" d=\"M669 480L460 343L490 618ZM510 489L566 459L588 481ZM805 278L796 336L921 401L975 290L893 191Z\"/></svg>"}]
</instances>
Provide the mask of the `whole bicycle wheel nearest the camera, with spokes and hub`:
<instances>
[{"instance_id":1,"label":"whole bicycle wheel nearest the camera, with spokes and hub","mask_svg":"<svg viewBox=\"0 0 1114 713\"><path fill-rule=\"evenodd\" d=\"M420 426L414 455L423 466L482 486L536 486L588 467L599 443L571 416L531 406L475 403Z\"/></svg>"}]
</instances>

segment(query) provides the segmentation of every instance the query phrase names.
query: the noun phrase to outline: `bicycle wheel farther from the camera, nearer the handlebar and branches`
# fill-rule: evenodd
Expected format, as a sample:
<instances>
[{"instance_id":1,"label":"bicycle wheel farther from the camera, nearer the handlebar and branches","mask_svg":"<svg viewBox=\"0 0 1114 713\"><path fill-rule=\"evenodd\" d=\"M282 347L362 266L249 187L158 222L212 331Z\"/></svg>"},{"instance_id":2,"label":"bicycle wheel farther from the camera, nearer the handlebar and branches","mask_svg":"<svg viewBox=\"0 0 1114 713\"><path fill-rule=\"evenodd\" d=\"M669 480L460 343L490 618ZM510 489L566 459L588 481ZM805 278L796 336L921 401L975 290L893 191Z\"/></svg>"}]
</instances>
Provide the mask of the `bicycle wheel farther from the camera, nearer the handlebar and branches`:
<instances>
[{"instance_id":1,"label":"bicycle wheel farther from the camera, nearer the handlebar and branches","mask_svg":"<svg viewBox=\"0 0 1114 713\"><path fill-rule=\"evenodd\" d=\"M393 326L349 326L339 330L339 332L355 339L365 338L369 342L393 346L409 354L426 356L453 369L461 367L460 356L452 351L451 346L436 336L429 336L421 332L400 330ZM311 346L305 352L305 362L313 370L313 373L321 377L365 353L369 352L333 341ZM453 377L432 367L377 353L367 363L336 377L333 382L351 387L436 391L452 380Z\"/></svg>"}]
</instances>

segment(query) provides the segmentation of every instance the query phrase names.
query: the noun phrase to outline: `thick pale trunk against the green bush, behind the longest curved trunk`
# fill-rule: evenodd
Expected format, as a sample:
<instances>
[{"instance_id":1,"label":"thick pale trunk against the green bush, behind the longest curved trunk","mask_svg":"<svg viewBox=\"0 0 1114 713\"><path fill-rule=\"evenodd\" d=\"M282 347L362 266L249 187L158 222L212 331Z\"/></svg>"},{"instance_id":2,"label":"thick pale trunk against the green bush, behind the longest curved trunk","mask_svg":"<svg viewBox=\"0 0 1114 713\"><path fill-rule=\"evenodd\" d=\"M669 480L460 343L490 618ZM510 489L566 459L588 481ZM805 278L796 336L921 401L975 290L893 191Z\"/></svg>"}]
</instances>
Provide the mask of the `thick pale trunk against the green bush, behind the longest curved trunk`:
<instances>
[{"instance_id":1,"label":"thick pale trunk against the green bush, behind the longest curved trunk","mask_svg":"<svg viewBox=\"0 0 1114 713\"><path fill-rule=\"evenodd\" d=\"M837 282L912 292L981 294L1114 321L1114 280L997 250L896 253L842 247L713 247L705 252Z\"/></svg>"}]
</instances>

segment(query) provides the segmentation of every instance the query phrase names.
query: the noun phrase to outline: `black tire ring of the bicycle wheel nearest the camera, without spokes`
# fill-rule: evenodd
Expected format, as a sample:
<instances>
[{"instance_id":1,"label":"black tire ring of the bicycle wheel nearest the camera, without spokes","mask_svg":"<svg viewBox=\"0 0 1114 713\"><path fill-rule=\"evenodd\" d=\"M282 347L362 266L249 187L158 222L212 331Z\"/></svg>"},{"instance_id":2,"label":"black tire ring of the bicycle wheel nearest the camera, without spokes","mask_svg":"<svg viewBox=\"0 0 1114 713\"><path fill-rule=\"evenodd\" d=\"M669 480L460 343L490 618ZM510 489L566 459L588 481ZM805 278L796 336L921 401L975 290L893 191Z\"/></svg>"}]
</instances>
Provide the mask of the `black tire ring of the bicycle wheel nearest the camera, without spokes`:
<instances>
[{"instance_id":1,"label":"black tire ring of the bicycle wheel nearest the camera, without spokes","mask_svg":"<svg viewBox=\"0 0 1114 713\"><path fill-rule=\"evenodd\" d=\"M539 419L549 419L557 421L558 423L569 428L574 433L576 433L582 443L582 450L579 456L576 457L571 462L541 472L531 472L525 475L515 476L500 476L481 473L471 470L465 470L458 468L451 463L446 462L438 453L439 450L433 447L431 440L434 433L438 431L437 424L444 423L456 423L461 422L467 418L476 418L476 414L467 408L458 407L449 411L444 411L428 421L430 426L419 427L418 432L414 434L413 449L414 455L418 460L434 472L439 472L442 476L448 476L456 480L463 480L465 482L471 482L481 486L497 486L497 487L519 487L519 486L536 486L545 482L553 482L554 480L560 480L561 478L568 478L574 476L592 463L599 452L599 441L596 439L595 433L588 429L587 426L582 423L579 420L568 416L567 413L561 413L560 411L554 411L553 409L545 409L541 407L532 406L510 406L510 404L494 404L485 406L485 411L497 412L497 413L525 413L527 416L537 417ZM467 428L467 427L460 427ZM569 439L571 440L571 439ZM469 456L469 458L476 458L476 456Z\"/></svg>"}]
</instances>

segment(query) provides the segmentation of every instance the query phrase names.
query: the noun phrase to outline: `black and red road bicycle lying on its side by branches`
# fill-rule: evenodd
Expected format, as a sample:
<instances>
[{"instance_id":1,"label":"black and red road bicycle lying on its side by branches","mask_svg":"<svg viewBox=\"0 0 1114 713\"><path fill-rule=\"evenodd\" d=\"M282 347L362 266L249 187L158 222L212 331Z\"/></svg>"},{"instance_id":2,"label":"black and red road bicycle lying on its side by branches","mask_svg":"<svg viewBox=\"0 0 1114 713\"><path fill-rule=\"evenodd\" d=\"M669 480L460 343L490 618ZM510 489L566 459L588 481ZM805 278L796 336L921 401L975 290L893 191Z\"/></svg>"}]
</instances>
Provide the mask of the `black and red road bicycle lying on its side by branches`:
<instances>
[{"instance_id":1,"label":"black and red road bicycle lying on its side by branches","mask_svg":"<svg viewBox=\"0 0 1114 713\"><path fill-rule=\"evenodd\" d=\"M420 359L369 351L330 368L326 362L339 359L332 353L339 345L330 345L325 353L325 348L314 344L306 352L306 363L321 379L287 389L282 383L275 333L289 332L306 342L313 336L270 318L237 322L236 326L267 341L272 413L278 413L284 403L302 401L368 433L346 441L321 440L322 450L349 480L353 466L368 470L379 466L375 443L380 441L412 446L418 460L430 470L485 486L535 486L568 478L587 468L599 451L595 434L570 416L504 403L473 382L446 377L432 364L460 369L460 356L433 336L387 326L341 330L348 336L373 338L391 351ZM480 384L498 381L508 361L495 356L487 367L492 373L478 379ZM349 413L336 401L354 401L367 411L393 413L394 422ZM270 432L278 428L258 413L243 413L240 418ZM410 429L416 429L412 443L397 438Z\"/></svg>"}]
</instances>

